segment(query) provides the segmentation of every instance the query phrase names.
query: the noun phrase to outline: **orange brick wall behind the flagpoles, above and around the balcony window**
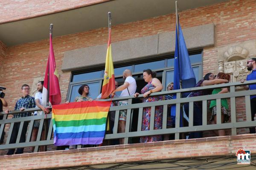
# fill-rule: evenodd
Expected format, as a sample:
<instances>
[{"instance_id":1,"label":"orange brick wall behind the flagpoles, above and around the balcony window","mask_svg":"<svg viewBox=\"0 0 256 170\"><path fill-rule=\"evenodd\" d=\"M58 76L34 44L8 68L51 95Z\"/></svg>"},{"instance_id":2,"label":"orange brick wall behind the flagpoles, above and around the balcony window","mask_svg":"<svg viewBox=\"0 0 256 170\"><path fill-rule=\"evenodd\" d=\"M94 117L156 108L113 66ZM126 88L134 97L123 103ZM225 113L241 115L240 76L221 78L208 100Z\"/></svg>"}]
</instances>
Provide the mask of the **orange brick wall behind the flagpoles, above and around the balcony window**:
<instances>
[{"instance_id":1,"label":"orange brick wall behind the flagpoles, above and around the balcony window","mask_svg":"<svg viewBox=\"0 0 256 170\"><path fill-rule=\"evenodd\" d=\"M41 8L46 8L42 6ZM6 15L8 16L8 15ZM10 16L10 19L12 16ZM232 0L180 12L182 28L214 23L216 26L216 43L214 47L203 49L203 70L217 73L217 48L234 42L255 40L256 38L256 1ZM175 30L175 14L168 14L142 21L120 24L112 27L112 42L128 40ZM108 29L99 28L91 31L54 37L53 47L58 73L62 101L66 100L70 72L62 72L61 64L64 51L107 43ZM4 45L3 45L4 47ZM4 48L6 49L6 47ZM13 109L20 98L20 86L31 85L35 77L44 76L49 40L30 42L6 49L6 57L1 70L0 85L6 86L6 100L9 109ZM114 55L114 51L113 51ZM238 113L240 114L240 113ZM241 119L244 115L241 112ZM239 118L239 119L240 119Z\"/></svg>"}]
</instances>

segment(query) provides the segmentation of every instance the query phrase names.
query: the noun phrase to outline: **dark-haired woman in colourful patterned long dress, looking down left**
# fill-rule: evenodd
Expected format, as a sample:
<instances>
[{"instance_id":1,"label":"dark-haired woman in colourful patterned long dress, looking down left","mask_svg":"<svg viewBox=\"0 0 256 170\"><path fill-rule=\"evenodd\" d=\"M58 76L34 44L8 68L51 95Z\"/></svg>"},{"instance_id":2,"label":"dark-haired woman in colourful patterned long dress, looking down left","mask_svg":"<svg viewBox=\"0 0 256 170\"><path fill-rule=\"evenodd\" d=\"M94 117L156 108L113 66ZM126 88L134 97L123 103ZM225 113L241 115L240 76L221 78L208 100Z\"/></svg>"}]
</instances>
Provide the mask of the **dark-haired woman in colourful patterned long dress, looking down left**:
<instances>
[{"instance_id":1,"label":"dark-haired woman in colourful patterned long dress, looking down left","mask_svg":"<svg viewBox=\"0 0 256 170\"><path fill-rule=\"evenodd\" d=\"M141 90L143 94L143 102L155 102L163 99L163 96L154 96L148 97L149 94L153 92L158 92L163 89L162 83L159 79L155 78L156 72L152 72L150 69L143 71L143 79L145 82L148 82L147 85ZM134 94L137 97L139 93ZM141 130L149 130L150 127L150 116L151 116L151 107L143 108L143 119L142 119L142 128ZM162 129L163 124L163 106L156 106L154 113L154 129ZM157 142L162 141L162 136L142 136L140 138L141 143L145 142Z\"/></svg>"}]
</instances>

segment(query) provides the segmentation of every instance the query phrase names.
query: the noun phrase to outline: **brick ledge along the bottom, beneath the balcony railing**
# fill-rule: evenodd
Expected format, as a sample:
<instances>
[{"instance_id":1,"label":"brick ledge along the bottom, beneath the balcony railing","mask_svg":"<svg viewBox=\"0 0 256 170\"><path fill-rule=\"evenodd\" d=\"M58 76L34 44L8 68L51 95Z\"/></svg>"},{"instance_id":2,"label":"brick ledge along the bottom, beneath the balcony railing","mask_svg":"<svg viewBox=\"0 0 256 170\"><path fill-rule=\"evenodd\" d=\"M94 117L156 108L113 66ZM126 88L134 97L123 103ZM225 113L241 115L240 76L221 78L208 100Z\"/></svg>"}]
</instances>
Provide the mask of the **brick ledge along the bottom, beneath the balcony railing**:
<instances>
[{"instance_id":1,"label":"brick ledge along the bottom, beneath the balcony railing","mask_svg":"<svg viewBox=\"0 0 256 170\"><path fill-rule=\"evenodd\" d=\"M209 158L209 156L233 156L234 159L231 160L230 164L236 164L237 150L250 150L252 156L256 153L255 145L256 134L246 134L239 136L183 139L41 153L25 153L22 155L0 156L0 169L28 170L86 165L93 166L96 164L110 167L118 163L150 160L161 161L165 159L190 159L195 157L205 159L205 157ZM251 157L251 166L253 166L252 162L253 159ZM197 161L197 163L199 163L199 161ZM207 163L210 164L210 161L207 161ZM170 164L169 166L171 167L172 165ZM247 169L250 169L250 167L247 167Z\"/></svg>"}]
</instances>

